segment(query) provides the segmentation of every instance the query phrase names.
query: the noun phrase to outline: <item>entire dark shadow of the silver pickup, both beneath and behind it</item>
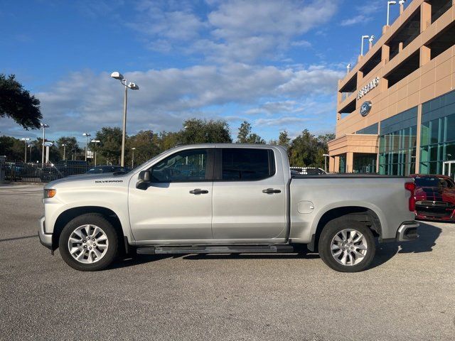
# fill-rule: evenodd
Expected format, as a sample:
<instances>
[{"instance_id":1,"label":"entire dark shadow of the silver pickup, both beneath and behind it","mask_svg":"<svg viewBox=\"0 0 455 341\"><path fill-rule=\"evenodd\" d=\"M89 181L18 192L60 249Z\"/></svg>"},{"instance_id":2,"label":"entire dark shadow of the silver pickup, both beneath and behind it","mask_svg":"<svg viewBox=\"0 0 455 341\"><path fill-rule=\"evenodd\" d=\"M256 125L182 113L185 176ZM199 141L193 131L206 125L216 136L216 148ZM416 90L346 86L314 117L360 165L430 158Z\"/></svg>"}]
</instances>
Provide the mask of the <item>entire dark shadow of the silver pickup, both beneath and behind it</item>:
<instances>
[{"instance_id":1,"label":"entire dark shadow of the silver pickup, both beneath and behind it","mask_svg":"<svg viewBox=\"0 0 455 341\"><path fill-rule=\"evenodd\" d=\"M395 254L431 252L441 229L432 224L420 222L419 239L410 242L390 242L377 244L376 256L369 269L380 266L392 259ZM302 249L289 254L140 254L124 258L109 266L109 269L120 269L127 266L161 261L162 259L182 258L188 260L210 259L318 259L319 254Z\"/></svg>"}]
</instances>

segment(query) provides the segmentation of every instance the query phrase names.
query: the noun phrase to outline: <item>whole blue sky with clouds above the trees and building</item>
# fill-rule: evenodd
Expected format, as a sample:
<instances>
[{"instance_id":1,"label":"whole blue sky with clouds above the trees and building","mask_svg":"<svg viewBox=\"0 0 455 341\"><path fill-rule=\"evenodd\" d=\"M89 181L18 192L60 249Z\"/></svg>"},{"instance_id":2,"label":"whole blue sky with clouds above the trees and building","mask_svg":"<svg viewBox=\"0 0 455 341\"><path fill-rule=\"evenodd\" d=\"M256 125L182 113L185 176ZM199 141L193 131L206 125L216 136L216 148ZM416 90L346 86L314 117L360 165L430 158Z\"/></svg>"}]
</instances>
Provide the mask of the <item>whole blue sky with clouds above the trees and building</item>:
<instances>
[{"instance_id":1,"label":"whole blue sky with clouds above the trees and building","mask_svg":"<svg viewBox=\"0 0 455 341\"><path fill-rule=\"evenodd\" d=\"M409 2L409 1L408 1ZM380 37L386 0L2 1L0 72L41 100L48 136L121 126L176 131L184 119L243 120L264 139L334 131L336 84L360 36ZM391 18L398 16L398 6ZM365 44L366 47L366 44ZM1 134L35 138L10 119Z\"/></svg>"}]
</instances>

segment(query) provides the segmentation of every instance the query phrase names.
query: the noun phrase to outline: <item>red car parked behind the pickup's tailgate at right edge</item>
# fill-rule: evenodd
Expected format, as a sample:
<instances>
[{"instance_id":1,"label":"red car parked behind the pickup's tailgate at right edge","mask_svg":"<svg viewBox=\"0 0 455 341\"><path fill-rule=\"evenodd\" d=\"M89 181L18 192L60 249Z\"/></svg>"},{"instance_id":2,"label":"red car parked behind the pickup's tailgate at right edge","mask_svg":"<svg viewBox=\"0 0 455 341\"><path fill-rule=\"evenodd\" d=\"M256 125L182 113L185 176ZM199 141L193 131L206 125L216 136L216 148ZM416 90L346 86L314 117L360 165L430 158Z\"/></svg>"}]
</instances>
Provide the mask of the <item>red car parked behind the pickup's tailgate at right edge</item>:
<instances>
[{"instance_id":1,"label":"red car parked behind the pickup's tailgate at right edge","mask_svg":"<svg viewBox=\"0 0 455 341\"><path fill-rule=\"evenodd\" d=\"M416 219L455 222L455 183L446 175L410 175L415 180Z\"/></svg>"}]
</instances>

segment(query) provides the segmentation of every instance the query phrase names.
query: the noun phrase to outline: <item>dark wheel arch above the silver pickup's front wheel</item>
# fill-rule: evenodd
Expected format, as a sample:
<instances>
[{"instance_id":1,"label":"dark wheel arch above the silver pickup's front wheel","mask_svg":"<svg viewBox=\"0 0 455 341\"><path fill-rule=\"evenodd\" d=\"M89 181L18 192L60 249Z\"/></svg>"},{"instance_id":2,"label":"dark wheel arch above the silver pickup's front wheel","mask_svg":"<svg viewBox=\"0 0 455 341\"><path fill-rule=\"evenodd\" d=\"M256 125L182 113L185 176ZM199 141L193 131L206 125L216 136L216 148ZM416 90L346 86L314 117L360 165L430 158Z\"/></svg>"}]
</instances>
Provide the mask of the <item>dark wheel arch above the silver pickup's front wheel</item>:
<instances>
[{"instance_id":1,"label":"dark wheel arch above the silver pickup's front wheel","mask_svg":"<svg viewBox=\"0 0 455 341\"><path fill-rule=\"evenodd\" d=\"M122 222L120 222L119 217L114 211L102 206L80 206L73 207L61 212L57 220L55 220L52 235L52 250L58 248L58 241L60 239L60 234L62 233L63 227L65 227L65 225L75 217L79 217L80 215L85 215L87 213L99 213L105 217L105 219L112 224L114 229L116 229L119 236L119 247L122 246L122 241L125 239Z\"/></svg>"}]
</instances>

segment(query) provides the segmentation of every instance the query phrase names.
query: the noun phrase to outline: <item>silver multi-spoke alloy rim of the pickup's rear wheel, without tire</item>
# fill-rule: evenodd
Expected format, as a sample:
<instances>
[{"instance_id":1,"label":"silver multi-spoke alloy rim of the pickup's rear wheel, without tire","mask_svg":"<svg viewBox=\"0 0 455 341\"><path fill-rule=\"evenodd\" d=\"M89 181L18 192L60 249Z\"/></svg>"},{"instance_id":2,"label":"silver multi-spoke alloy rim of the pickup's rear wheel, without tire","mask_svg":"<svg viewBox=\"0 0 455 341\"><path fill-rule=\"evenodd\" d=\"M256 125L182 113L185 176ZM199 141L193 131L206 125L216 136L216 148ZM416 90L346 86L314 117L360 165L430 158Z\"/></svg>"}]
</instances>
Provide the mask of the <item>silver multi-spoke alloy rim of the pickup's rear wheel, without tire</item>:
<instances>
[{"instance_id":1,"label":"silver multi-spoke alloy rim of the pickup's rear wheel, without tire","mask_svg":"<svg viewBox=\"0 0 455 341\"><path fill-rule=\"evenodd\" d=\"M339 264L353 266L363 261L368 244L363 234L355 229L343 229L333 237L331 254Z\"/></svg>"}]
</instances>

